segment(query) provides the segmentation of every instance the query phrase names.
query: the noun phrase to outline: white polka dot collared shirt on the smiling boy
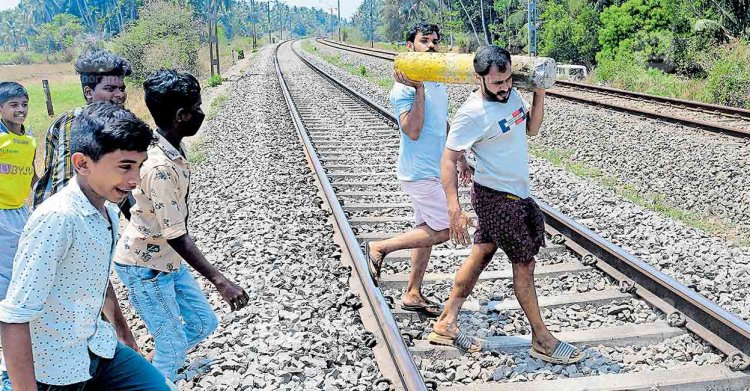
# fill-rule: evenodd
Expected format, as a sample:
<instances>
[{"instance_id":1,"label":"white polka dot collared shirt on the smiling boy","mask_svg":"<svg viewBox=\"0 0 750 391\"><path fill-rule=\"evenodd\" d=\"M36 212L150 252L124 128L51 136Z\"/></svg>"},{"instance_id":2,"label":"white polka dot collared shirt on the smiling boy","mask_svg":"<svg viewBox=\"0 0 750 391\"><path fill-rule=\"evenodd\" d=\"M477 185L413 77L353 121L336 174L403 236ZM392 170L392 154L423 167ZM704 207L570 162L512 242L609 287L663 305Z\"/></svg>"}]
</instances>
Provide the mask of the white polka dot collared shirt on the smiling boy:
<instances>
[{"instance_id":1,"label":"white polka dot collared shirt on the smiling boy","mask_svg":"<svg viewBox=\"0 0 750 391\"><path fill-rule=\"evenodd\" d=\"M107 212L109 221L74 178L34 211L21 235L0 322L29 323L42 383L86 381L89 350L114 355L114 329L101 319L118 224L114 206Z\"/></svg>"}]
</instances>

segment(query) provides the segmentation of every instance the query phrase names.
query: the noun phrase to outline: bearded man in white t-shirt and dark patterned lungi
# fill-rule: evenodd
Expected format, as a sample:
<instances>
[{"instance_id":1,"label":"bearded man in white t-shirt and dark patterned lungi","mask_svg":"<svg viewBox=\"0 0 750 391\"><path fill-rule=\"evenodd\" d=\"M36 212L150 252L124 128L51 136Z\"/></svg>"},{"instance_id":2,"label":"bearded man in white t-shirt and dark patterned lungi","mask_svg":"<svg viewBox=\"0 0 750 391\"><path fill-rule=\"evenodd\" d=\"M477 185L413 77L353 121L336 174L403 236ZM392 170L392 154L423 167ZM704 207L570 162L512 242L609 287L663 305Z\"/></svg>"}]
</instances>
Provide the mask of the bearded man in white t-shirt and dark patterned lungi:
<instances>
[{"instance_id":1,"label":"bearded man in white t-shirt and dark patterned lungi","mask_svg":"<svg viewBox=\"0 0 750 391\"><path fill-rule=\"evenodd\" d=\"M544 216L530 197L526 136L539 134L544 118L542 89L529 105L513 89L507 50L485 46L474 57L480 88L456 113L442 157L442 182L448 200L450 236L469 244L469 217L458 201L456 163L471 150L476 157L471 202L477 214L474 246L459 269L450 298L428 336L433 343L452 344L469 351L479 341L458 330L458 313L479 275L498 248L513 265L513 290L531 325L531 355L555 364L583 358L574 346L558 341L542 320L534 287L534 256L544 246Z\"/></svg>"}]
</instances>

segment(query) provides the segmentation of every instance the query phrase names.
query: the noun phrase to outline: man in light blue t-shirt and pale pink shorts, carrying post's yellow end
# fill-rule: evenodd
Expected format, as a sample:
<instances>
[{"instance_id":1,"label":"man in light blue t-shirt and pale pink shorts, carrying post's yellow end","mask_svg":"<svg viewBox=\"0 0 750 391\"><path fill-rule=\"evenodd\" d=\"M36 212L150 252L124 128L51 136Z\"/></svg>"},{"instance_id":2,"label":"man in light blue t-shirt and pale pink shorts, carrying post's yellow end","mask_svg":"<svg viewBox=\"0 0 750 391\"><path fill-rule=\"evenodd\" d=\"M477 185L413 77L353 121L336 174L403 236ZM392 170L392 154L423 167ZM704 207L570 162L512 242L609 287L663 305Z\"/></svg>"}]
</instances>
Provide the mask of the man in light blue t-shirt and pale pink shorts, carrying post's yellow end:
<instances>
[{"instance_id":1,"label":"man in light blue t-shirt and pale pink shorts, carrying post's yellow end","mask_svg":"<svg viewBox=\"0 0 750 391\"><path fill-rule=\"evenodd\" d=\"M417 23L409 31L406 47L415 52L437 52L440 29ZM440 184L440 158L448 132L448 92L444 84L413 81L400 72L390 101L401 130L397 177L409 195L416 228L396 237L373 241L365 247L370 271L377 279L386 255L411 249L409 285L401 306L436 317L440 307L422 296L422 279L432 246L448 240L448 209ZM468 172L465 161L460 163Z\"/></svg>"}]
</instances>

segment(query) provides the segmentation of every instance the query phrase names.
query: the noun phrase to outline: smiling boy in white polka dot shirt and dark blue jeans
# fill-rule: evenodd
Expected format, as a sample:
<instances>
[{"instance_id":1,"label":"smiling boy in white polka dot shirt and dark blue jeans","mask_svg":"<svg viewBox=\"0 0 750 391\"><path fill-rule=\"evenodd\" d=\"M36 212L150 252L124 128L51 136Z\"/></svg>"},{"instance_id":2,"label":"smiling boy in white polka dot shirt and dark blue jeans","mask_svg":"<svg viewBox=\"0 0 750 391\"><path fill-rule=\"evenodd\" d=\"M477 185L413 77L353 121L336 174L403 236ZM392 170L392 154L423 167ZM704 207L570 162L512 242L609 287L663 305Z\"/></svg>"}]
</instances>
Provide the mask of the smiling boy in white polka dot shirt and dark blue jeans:
<instances>
[{"instance_id":1,"label":"smiling boy in white polka dot shirt and dark blue jeans","mask_svg":"<svg viewBox=\"0 0 750 391\"><path fill-rule=\"evenodd\" d=\"M0 338L16 390L176 390L102 319L120 203L136 187L151 129L129 115L79 116L71 130L76 176L42 203L21 234ZM119 310L119 307L118 307Z\"/></svg>"}]
</instances>

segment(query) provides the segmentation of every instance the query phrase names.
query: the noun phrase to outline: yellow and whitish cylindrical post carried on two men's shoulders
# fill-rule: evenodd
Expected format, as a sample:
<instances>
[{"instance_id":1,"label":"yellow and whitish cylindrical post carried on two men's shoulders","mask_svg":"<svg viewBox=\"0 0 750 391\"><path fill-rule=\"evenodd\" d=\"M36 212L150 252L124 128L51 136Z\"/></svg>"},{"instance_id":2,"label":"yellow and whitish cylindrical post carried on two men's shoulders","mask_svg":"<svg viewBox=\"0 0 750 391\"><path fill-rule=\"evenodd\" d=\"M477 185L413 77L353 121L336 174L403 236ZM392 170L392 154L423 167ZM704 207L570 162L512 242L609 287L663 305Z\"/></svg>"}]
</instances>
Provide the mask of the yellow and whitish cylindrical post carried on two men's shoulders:
<instances>
[{"instance_id":1,"label":"yellow and whitish cylindrical post carried on two men's shoulders","mask_svg":"<svg viewBox=\"0 0 750 391\"><path fill-rule=\"evenodd\" d=\"M511 56L513 83L526 88L550 88L557 64L549 57ZM416 81L474 84L474 54L400 53L393 68Z\"/></svg>"}]
</instances>

